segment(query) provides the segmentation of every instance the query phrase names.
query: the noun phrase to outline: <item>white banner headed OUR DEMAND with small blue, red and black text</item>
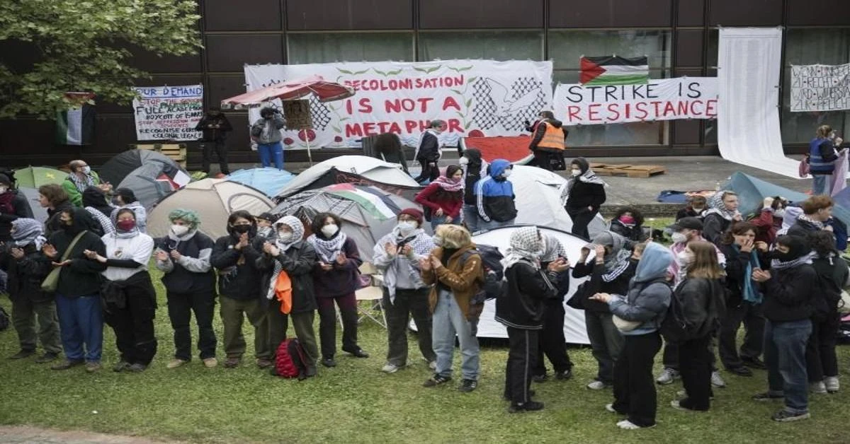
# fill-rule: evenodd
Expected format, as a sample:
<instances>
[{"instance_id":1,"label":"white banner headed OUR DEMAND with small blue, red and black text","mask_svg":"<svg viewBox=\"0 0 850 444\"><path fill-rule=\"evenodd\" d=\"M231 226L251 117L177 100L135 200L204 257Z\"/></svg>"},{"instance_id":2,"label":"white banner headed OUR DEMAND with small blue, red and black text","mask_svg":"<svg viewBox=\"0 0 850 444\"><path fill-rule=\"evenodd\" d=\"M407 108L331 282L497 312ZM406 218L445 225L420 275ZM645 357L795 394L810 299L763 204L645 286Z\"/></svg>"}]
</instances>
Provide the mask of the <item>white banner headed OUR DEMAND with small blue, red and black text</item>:
<instances>
[{"instance_id":1,"label":"white banner headed OUR DEMAND with small blue, red and black text","mask_svg":"<svg viewBox=\"0 0 850 444\"><path fill-rule=\"evenodd\" d=\"M195 126L204 116L203 85L136 87L133 98L138 140L197 140Z\"/></svg>"}]
</instances>

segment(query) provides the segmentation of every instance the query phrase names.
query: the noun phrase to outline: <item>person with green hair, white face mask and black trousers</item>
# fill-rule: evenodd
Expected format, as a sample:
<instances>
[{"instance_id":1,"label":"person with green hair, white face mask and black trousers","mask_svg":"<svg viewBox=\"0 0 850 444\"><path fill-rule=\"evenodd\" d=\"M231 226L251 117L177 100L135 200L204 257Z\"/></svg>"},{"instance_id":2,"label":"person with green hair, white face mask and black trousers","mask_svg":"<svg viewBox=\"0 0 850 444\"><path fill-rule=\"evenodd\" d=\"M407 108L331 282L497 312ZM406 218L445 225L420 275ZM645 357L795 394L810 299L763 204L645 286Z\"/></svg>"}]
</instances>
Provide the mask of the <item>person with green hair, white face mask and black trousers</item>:
<instances>
[{"instance_id":1,"label":"person with green hair, white face mask and black trousers","mask_svg":"<svg viewBox=\"0 0 850 444\"><path fill-rule=\"evenodd\" d=\"M201 220L192 210L168 213L171 228L167 236L156 239L156 268L164 274L168 318L174 329L174 359L168 368L178 368L192 358L190 321L195 312L198 324L198 349L207 368L218 365L216 337L212 330L215 312L215 272L210 265L214 242L198 231Z\"/></svg>"}]
</instances>

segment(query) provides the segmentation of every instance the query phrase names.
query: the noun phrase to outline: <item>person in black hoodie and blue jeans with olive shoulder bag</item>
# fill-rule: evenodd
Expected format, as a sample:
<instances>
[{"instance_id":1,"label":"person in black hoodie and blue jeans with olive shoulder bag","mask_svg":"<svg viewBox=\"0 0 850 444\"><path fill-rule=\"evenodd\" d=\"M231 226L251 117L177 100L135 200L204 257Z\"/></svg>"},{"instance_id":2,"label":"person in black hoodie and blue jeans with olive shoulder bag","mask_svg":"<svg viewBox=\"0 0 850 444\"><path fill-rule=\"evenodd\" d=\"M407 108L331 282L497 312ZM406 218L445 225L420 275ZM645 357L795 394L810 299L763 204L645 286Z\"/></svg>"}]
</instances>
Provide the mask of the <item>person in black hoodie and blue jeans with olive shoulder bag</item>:
<instances>
[{"instance_id":1,"label":"person in black hoodie and blue jeans with olive shoulder bag","mask_svg":"<svg viewBox=\"0 0 850 444\"><path fill-rule=\"evenodd\" d=\"M65 370L86 363L87 372L96 372L100 369L104 340L100 273L106 265L89 261L84 252L95 251L105 256L106 246L92 233L96 222L82 208L62 211L59 223L61 229L50 236L49 244L42 250L54 267L61 267L56 285L56 308L65 361L51 368ZM77 236L79 239L75 243ZM69 253L65 257L66 251Z\"/></svg>"}]
</instances>

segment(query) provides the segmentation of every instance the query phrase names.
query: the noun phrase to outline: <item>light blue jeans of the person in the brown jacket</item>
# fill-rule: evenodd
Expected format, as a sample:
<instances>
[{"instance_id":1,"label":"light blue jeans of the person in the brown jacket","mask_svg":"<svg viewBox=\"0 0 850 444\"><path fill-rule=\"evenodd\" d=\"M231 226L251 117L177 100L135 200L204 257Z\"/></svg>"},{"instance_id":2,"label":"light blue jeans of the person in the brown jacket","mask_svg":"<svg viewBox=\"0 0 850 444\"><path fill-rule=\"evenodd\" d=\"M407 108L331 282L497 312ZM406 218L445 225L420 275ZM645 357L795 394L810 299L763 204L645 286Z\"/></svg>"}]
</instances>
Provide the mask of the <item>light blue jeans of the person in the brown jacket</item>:
<instances>
[{"instance_id":1,"label":"light blue jeans of the person in the brown jacket","mask_svg":"<svg viewBox=\"0 0 850 444\"><path fill-rule=\"evenodd\" d=\"M455 354L455 334L461 343L461 372L463 379L477 380L479 375L479 344L473 336L472 326L463 317L455 295L439 290L437 306L433 309L433 351L437 354L437 369L440 376L451 376L451 361Z\"/></svg>"}]
</instances>

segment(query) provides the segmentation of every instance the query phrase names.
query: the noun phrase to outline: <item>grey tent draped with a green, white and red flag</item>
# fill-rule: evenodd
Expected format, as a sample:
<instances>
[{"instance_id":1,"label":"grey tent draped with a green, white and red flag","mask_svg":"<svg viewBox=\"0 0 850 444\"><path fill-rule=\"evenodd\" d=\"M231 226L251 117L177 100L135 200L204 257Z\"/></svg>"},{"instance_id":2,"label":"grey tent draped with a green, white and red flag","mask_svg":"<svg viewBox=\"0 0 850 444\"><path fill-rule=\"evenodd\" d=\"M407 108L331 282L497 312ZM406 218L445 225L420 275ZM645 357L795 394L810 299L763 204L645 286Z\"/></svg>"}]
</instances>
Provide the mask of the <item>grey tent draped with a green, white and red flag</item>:
<instances>
[{"instance_id":1,"label":"grey tent draped with a green, white and red flag","mask_svg":"<svg viewBox=\"0 0 850 444\"><path fill-rule=\"evenodd\" d=\"M371 261L372 248L393 230L396 216L405 208L421 207L381 188L338 183L295 194L271 212L298 217L308 234L314 216L323 212L336 214L343 220L343 233L357 243L360 258Z\"/></svg>"}]
</instances>

